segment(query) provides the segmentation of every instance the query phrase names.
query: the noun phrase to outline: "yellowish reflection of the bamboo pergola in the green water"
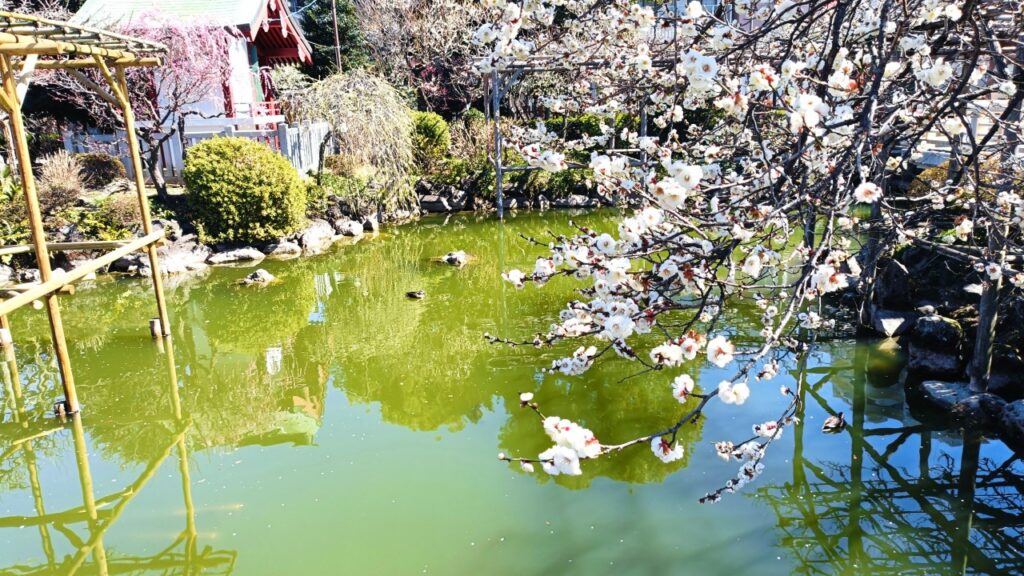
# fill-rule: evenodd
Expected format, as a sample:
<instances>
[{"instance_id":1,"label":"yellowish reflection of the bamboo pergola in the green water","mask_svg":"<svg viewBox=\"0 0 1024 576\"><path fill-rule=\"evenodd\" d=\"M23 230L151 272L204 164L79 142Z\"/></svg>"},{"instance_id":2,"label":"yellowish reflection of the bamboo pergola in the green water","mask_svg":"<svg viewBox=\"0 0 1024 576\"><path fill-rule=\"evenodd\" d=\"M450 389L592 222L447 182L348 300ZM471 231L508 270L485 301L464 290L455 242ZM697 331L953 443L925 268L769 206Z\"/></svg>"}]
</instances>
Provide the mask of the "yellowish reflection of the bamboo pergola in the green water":
<instances>
[{"instance_id":1,"label":"yellowish reflection of the bamboo pergola in the green water","mask_svg":"<svg viewBox=\"0 0 1024 576\"><path fill-rule=\"evenodd\" d=\"M35 515L0 518L0 528L35 526L39 531L39 543L44 562L42 564L17 564L0 567L0 573L30 574L118 574L118 573L176 573L176 574L229 574L233 571L237 552L217 550L207 545L200 549L196 528L196 508L191 498L187 438L191 422L183 414L178 395L178 378L171 340L164 342L166 373L163 387L169 404L163 407L165 429L161 446L151 455L141 474L130 484L105 494L97 494L89 456L88 440L81 414L75 414L70 422L46 421L42 429L34 429L30 414L25 409L22 381L18 378L17 362L13 349L5 352L3 362L4 387L9 393L6 398L14 401L9 412L9 423L3 429L0 443L8 449L0 455L7 469L24 469L31 486ZM40 420L36 420L40 422ZM35 427L39 427L36 424ZM71 435L75 470L81 489L82 505L61 511L47 511L45 491L39 474L36 444L41 441ZM109 552L104 543L106 533L122 517L128 505L141 494L161 469L164 462L176 454L178 474L181 479L181 501L184 508L183 530L159 552L152 556L133 556ZM60 549L69 550L62 557L55 551L54 540Z\"/></svg>"}]
</instances>

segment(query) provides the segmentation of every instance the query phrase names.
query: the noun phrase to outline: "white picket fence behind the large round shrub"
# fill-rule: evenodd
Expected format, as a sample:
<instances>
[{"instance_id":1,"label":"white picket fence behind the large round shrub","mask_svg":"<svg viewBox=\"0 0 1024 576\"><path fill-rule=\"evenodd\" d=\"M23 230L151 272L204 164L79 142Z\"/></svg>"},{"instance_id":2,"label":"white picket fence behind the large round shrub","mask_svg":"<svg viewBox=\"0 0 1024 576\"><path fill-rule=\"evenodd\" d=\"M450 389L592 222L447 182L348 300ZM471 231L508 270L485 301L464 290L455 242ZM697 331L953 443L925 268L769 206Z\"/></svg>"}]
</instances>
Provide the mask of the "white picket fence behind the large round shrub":
<instances>
[{"instance_id":1,"label":"white picket fence behind the large round shrub","mask_svg":"<svg viewBox=\"0 0 1024 576\"><path fill-rule=\"evenodd\" d=\"M273 151L281 153L300 174L305 174L316 168L319 164L321 142L330 134L330 126L326 122L288 124L284 122L282 116L258 120L259 124L255 124L252 118L239 118L187 126L183 139L185 146L190 148L203 140L217 136L249 138L263 142ZM168 138L163 145L160 165L166 181L177 182L181 180L185 156L181 149L181 140L182 138L175 135ZM134 177L123 130L113 134L66 130L63 143L65 150L73 154L101 152L120 158L128 170L128 176Z\"/></svg>"}]
</instances>

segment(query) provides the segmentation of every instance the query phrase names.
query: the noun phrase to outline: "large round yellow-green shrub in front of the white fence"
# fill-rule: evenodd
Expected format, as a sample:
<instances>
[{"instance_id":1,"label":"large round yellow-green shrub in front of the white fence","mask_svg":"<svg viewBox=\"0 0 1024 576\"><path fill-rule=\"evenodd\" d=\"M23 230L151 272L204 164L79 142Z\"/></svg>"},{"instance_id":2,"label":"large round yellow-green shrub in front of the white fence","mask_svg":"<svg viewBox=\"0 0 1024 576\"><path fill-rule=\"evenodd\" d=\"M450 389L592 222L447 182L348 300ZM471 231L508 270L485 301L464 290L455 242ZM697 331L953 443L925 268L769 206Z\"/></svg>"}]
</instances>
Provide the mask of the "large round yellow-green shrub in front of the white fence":
<instances>
[{"instance_id":1,"label":"large round yellow-green shrub in front of the white fence","mask_svg":"<svg viewBox=\"0 0 1024 576\"><path fill-rule=\"evenodd\" d=\"M247 138L212 138L189 149L182 171L188 206L205 242L276 240L305 221L306 188L292 164Z\"/></svg>"}]
</instances>

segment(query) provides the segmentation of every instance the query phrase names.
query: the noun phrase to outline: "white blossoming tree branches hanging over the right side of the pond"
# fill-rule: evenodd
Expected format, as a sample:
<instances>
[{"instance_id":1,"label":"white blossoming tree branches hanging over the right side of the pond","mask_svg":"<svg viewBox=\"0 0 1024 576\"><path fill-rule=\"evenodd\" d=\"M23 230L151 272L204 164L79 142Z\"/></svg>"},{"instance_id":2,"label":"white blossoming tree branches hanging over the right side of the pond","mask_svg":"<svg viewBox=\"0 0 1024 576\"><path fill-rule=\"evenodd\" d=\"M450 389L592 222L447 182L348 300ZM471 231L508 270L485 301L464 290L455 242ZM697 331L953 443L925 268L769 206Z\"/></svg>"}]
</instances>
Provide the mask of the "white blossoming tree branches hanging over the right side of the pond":
<instances>
[{"instance_id":1,"label":"white blossoming tree branches hanging over the right side of the pond","mask_svg":"<svg viewBox=\"0 0 1024 576\"><path fill-rule=\"evenodd\" d=\"M861 271L871 258L851 255L868 233L876 256L942 244L963 248L986 281L1024 286L1019 263L986 244L1019 244L1021 160L984 194L971 169L986 157L1005 161L1014 151L981 147L1024 130L985 112L1022 86L1007 72L1012 63L997 66L998 42L979 40L992 32L974 26L976 5L731 6L743 17L709 13L697 1L484 0L488 22L473 34L478 71L537 64L551 71L531 87L547 113L600 124L572 140L543 122L510 127L510 146L550 172L585 165L599 193L633 205L615 230L578 228L548 244L531 272L503 275L516 288L559 275L580 281L579 299L534 343L585 341L551 365L569 376L606 352L643 365L671 384L672 398L664 396L679 405L679 425L711 400L743 405L751 385L779 374L784 356L835 327L837 294L860 297L873 273ZM973 113L999 124L990 143L968 137ZM911 161L936 134L974 164L907 199L896 182L910 179ZM756 303L760 323L732 322L743 313L736 301ZM700 367L733 373L698 390L682 372ZM792 406L794 395L783 396ZM742 460L727 491L761 472L767 444L793 422L757 424L761 442L720 443L725 457ZM635 443L649 440L658 459L675 461L683 456L677 429ZM580 458L594 456L578 447L556 439L540 461L550 474L579 474Z\"/></svg>"}]
</instances>

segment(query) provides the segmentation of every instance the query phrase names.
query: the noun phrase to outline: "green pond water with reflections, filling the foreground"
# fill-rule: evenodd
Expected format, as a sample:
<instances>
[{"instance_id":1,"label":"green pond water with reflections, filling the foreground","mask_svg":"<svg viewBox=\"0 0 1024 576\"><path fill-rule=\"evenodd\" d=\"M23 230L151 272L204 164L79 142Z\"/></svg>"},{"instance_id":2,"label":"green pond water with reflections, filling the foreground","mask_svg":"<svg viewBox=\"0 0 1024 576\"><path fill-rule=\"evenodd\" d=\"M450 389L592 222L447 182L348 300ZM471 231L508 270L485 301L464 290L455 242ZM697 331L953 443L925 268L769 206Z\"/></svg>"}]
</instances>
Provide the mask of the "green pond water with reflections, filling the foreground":
<instances>
[{"instance_id":1,"label":"green pond water with reflections, filling the foreground","mask_svg":"<svg viewBox=\"0 0 1024 576\"><path fill-rule=\"evenodd\" d=\"M611 230L615 214L579 221ZM605 443L675 421L673 374L599 362L541 369L556 349L487 344L557 318L572 281L517 291L532 269L520 235L568 230L565 213L504 223L460 216L391 229L331 254L261 264L281 282L221 268L169 286L172 345L148 335L146 282L101 279L63 301L81 420L61 397L41 312L11 318L17 381L0 394L0 574L1018 574L1020 475L997 441L921 424L892 344L833 341L808 359L803 424L765 474L717 504L698 498L737 465L741 440L784 408L781 383L742 408L712 403L683 428L686 457L641 446L584 462L584 476L499 462L549 441L518 407ZM457 270L432 258L464 249ZM423 300L404 293L422 289ZM741 339L757 313L737 311ZM726 374L681 370L714 386ZM850 426L825 436L829 411Z\"/></svg>"}]
</instances>

